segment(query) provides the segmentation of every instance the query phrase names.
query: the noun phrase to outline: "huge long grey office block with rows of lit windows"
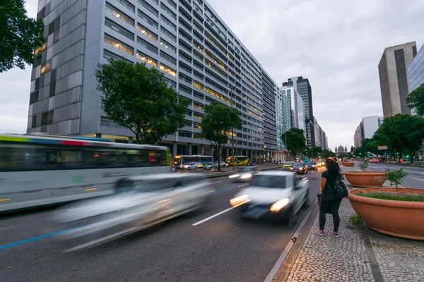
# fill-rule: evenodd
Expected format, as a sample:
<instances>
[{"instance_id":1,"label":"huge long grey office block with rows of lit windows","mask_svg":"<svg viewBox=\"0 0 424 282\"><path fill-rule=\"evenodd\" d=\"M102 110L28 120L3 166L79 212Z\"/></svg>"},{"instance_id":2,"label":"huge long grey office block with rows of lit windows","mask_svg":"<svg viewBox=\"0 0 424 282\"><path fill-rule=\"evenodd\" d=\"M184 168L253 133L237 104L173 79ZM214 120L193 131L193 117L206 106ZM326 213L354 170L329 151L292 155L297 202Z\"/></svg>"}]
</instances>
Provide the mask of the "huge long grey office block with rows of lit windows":
<instances>
[{"instance_id":1,"label":"huge long grey office block with rows of lit windows","mask_svg":"<svg viewBox=\"0 0 424 282\"><path fill-rule=\"evenodd\" d=\"M212 154L201 135L204 105L235 106L237 154L278 155L276 83L213 8L202 0L40 0L47 42L33 65L28 133L105 137L134 134L107 118L94 76L98 63L124 59L158 68L187 97L184 128L162 140L172 154ZM235 86L232 89L232 86ZM273 116L274 115L274 116ZM224 149L230 156L231 144Z\"/></svg>"}]
</instances>

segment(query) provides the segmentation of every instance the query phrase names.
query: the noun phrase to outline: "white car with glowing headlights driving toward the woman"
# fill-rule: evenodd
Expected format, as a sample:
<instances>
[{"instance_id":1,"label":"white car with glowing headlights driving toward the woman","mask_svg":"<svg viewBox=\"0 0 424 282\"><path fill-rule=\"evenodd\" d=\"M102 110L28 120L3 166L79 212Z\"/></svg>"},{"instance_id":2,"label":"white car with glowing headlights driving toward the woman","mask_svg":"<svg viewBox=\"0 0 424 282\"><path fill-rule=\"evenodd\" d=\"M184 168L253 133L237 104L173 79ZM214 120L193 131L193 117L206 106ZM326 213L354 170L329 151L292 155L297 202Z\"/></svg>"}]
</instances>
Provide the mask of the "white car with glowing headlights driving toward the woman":
<instances>
[{"instance_id":1,"label":"white car with glowing headlights driving toward the woman","mask_svg":"<svg viewBox=\"0 0 424 282\"><path fill-rule=\"evenodd\" d=\"M309 180L290 171L264 171L252 185L242 188L230 200L232 207L241 207L242 215L259 219L280 214L293 226L302 206L309 206Z\"/></svg>"}]
</instances>

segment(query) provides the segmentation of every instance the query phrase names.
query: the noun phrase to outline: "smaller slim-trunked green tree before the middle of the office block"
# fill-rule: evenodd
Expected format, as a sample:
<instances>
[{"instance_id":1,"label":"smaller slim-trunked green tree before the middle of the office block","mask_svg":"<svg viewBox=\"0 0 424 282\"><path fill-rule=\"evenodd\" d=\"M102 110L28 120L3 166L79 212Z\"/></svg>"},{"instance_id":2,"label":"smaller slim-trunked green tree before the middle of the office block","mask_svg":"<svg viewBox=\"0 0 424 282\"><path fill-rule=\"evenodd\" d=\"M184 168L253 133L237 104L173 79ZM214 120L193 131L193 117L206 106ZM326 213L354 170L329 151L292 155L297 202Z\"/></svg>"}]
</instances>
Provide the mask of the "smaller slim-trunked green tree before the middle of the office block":
<instances>
[{"instance_id":1,"label":"smaller slim-trunked green tree before the middle of the office block","mask_svg":"<svg viewBox=\"0 0 424 282\"><path fill-rule=\"evenodd\" d=\"M223 147L228 142L228 135L232 128L242 128L242 118L240 118L237 109L224 106L218 102L205 105L205 116L201 121L201 133L215 149L218 156L218 171L220 171L220 156L223 153Z\"/></svg>"}]
</instances>

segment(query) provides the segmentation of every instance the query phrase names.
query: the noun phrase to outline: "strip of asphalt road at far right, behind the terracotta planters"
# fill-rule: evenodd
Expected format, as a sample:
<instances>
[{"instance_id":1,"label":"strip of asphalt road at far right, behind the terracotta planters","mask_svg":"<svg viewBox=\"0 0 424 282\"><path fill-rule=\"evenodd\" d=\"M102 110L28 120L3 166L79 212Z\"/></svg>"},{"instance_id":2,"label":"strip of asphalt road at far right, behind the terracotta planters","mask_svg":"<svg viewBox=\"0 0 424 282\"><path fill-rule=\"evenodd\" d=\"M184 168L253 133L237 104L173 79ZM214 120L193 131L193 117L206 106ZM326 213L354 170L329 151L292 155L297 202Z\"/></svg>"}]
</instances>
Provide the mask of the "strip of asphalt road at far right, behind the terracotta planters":
<instances>
[{"instance_id":1,"label":"strip of asphalt road at far right, behind the terracotta planters","mask_svg":"<svg viewBox=\"0 0 424 282\"><path fill-rule=\"evenodd\" d=\"M402 185L410 188L424 188L424 167L421 166L396 166L393 164L370 164L368 171L385 171L386 169L404 168L408 176L402 180Z\"/></svg>"}]
</instances>

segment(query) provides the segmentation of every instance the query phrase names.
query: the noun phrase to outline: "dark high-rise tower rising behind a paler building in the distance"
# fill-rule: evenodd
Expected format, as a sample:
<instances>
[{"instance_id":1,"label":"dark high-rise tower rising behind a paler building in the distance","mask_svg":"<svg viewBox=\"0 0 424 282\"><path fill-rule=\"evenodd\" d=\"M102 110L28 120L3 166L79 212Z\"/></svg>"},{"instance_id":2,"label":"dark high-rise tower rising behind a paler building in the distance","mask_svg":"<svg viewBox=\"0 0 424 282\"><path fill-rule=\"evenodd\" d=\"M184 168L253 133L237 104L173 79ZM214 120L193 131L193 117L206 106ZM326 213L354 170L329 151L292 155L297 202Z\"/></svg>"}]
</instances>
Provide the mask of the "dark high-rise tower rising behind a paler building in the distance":
<instances>
[{"instance_id":1,"label":"dark high-rise tower rising behind a paler building in the distance","mask_svg":"<svg viewBox=\"0 0 424 282\"><path fill-rule=\"evenodd\" d=\"M302 76L289 78L287 82L283 83L283 87L295 87L295 90L302 97L305 103L305 133L307 147L310 149L315 147L315 129L314 129L314 111L312 107L312 87L307 78Z\"/></svg>"}]
</instances>

